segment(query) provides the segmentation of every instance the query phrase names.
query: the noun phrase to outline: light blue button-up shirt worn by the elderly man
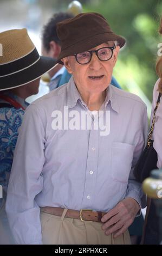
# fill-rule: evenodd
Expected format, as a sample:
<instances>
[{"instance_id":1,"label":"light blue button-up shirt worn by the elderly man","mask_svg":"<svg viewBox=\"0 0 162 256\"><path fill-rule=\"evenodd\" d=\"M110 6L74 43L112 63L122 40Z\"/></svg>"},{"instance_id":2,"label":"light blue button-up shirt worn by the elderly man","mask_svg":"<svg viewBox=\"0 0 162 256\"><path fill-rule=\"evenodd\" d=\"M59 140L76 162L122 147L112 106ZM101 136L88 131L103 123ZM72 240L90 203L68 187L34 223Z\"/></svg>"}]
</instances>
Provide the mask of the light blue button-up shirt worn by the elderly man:
<instances>
[{"instance_id":1,"label":"light blue button-up shirt worn by the elderly man","mask_svg":"<svg viewBox=\"0 0 162 256\"><path fill-rule=\"evenodd\" d=\"M17 243L42 243L41 206L107 212L132 197L145 207L133 176L147 138L144 102L109 85L101 107L110 113L107 136L95 129L53 130L53 111L63 113L64 106L88 111L73 77L25 111L6 206Z\"/></svg>"}]
</instances>

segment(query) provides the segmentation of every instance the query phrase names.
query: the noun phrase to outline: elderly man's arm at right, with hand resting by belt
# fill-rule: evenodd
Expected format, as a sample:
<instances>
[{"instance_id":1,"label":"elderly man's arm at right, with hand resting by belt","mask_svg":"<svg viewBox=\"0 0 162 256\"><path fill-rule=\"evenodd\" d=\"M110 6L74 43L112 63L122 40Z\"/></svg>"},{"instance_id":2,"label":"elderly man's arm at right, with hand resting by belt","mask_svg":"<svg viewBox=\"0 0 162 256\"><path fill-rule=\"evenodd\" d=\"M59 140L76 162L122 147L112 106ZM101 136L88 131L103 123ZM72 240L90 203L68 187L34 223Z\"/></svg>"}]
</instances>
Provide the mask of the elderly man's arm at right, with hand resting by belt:
<instances>
[{"instance_id":1,"label":"elderly man's arm at right, with hand resting by belt","mask_svg":"<svg viewBox=\"0 0 162 256\"><path fill-rule=\"evenodd\" d=\"M137 144L134 150L132 169L129 174L125 199L119 202L115 208L108 211L101 220L104 223L102 225L102 229L105 230L106 235L114 233L114 237L117 237L124 233L129 225L133 223L139 210L146 206L146 197L142 192L141 184L134 178L133 169L140 157L140 154L142 153L142 150L144 149L147 141L147 134L147 110L145 107L141 115L141 122L139 122Z\"/></svg>"}]
</instances>

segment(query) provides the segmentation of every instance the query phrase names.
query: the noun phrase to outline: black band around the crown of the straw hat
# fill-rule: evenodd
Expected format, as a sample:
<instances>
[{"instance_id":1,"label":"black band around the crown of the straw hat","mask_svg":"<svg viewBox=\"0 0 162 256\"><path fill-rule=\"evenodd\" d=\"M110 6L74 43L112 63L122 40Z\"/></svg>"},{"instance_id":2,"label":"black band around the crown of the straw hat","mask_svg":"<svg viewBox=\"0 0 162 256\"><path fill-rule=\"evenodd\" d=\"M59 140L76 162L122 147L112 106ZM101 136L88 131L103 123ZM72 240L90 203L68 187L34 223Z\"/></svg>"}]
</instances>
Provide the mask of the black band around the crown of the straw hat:
<instances>
[{"instance_id":1,"label":"black band around the crown of the straw hat","mask_svg":"<svg viewBox=\"0 0 162 256\"><path fill-rule=\"evenodd\" d=\"M34 48L34 50L30 52L27 56L24 56L13 62L1 65L0 76L7 76L10 74L14 74L22 69L28 68L28 66L34 64L39 58L40 55L38 54L36 48Z\"/></svg>"}]
</instances>

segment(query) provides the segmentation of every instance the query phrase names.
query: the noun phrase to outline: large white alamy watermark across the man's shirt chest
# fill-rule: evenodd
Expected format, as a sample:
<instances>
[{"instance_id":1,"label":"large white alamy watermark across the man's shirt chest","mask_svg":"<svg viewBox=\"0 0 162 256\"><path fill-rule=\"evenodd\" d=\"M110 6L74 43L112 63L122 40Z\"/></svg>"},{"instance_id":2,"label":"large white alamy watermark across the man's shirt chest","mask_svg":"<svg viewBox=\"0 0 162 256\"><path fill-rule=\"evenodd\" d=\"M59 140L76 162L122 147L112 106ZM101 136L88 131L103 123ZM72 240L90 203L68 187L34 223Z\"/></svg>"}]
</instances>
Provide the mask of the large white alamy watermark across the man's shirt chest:
<instances>
[{"instance_id":1,"label":"large white alamy watermark across the man's shirt chest","mask_svg":"<svg viewBox=\"0 0 162 256\"><path fill-rule=\"evenodd\" d=\"M63 112L51 113L53 130L99 130L100 136L110 133L110 111L76 111L64 106Z\"/></svg>"}]
</instances>

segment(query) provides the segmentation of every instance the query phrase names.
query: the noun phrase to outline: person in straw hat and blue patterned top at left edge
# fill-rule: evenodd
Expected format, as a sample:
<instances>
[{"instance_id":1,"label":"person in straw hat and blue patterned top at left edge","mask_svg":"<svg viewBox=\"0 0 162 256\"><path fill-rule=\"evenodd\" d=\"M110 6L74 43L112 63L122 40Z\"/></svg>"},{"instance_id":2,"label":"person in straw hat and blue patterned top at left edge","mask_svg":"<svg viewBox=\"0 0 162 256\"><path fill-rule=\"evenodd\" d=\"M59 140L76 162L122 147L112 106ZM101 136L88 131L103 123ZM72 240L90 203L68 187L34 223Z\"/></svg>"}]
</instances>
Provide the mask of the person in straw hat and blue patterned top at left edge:
<instances>
[{"instance_id":1,"label":"person in straw hat and blue patterned top at left edge","mask_svg":"<svg viewBox=\"0 0 162 256\"><path fill-rule=\"evenodd\" d=\"M12 243L5 214L5 194L18 132L22 124L25 99L38 93L41 76L52 69L55 60L39 56L27 29L0 33L0 244Z\"/></svg>"}]
</instances>

